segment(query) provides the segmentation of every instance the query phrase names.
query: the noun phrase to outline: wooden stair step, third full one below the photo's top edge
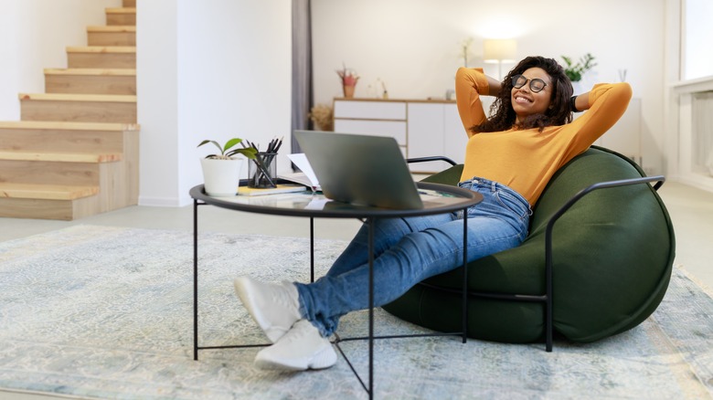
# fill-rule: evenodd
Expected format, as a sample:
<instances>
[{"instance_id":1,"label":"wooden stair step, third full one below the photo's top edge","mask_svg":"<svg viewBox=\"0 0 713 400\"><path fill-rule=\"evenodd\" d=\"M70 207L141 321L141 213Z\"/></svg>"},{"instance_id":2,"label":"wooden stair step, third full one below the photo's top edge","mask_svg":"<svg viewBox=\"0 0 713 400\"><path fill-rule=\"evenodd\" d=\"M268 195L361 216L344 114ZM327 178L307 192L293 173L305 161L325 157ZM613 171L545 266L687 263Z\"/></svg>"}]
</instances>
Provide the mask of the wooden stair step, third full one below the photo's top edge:
<instances>
[{"instance_id":1,"label":"wooden stair step, third full one below the photo's top edge","mask_svg":"<svg viewBox=\"0 0 713 400\"><path fill-rule=\"evenodd\" d=\"M136 68L136 47L67 47L69 68Z\"/></svg>"}]
</instances>

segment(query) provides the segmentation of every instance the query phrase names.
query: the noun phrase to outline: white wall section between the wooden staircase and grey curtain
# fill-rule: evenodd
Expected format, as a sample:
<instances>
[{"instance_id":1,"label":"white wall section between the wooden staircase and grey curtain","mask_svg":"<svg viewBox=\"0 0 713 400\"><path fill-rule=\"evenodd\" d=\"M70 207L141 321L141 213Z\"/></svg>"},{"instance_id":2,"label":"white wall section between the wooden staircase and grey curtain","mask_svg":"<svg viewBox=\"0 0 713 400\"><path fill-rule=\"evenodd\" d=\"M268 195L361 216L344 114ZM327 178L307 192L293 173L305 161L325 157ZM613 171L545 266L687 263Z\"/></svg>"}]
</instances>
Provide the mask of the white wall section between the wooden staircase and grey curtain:
<instances>
[{"instance_id":1,"label":"white wall section between the wooden staircase and grey curtain","mask_svg":"<svg viewBox=\"0 0 713 400\"><path fill-rule=\"evenodd\" d=\"M199 158L210 149L196 146L204 139L239 137L264 149L285 136L278 169L287 171L291 2L152 0L137 8L139 203L188 204L188 190L203 182Z\"/></svg>"}]
</instances>

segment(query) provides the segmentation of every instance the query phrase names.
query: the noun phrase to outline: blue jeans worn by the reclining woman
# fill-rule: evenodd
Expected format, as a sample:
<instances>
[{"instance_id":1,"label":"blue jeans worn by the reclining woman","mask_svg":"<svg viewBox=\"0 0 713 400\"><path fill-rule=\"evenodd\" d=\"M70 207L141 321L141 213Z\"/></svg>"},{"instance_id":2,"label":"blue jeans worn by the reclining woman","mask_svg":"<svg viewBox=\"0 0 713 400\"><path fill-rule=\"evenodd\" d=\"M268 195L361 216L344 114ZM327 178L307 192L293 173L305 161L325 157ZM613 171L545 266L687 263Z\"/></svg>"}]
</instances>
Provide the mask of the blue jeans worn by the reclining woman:
<instances>
[{"instance_id":1,"label":"blue jeans worn by the reclining woman","mask_svg":"<svg viewBox=\"0 0 713 400\"><path fill-rule=\"evenodd\" d=\"M468 261L516 247L527 237L530 206L504 184L474 178L459 184L483 195L468 209ZM398 299L434 275L463 266L463 212L374 222L374 305ZM362 226L324 277L296 282L303 318L328 337L339 318L368 308L368 226Z\"/></svg>"}]
</instances>

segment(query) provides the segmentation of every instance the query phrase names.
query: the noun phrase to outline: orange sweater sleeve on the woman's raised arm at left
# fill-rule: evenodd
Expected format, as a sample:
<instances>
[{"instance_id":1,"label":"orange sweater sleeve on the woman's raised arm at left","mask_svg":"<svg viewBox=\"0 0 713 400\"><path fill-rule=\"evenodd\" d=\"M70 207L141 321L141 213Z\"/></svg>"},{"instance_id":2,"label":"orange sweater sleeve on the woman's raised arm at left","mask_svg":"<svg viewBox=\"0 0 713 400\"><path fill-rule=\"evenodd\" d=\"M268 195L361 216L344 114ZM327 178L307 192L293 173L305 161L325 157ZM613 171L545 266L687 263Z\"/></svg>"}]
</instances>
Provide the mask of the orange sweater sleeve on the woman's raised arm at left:
<instances>
[{"instance_id":1,"label":"orange sweater sleeve on the woman's raised arm at left","mask_svg":"<svg viewBox=\"0 0 713 400\"><path fill-rule=\"evenodd\" d=\"M458 68L455 73L455 102L468 137L473 136L471 127L485 121L481 94L488 93L488 81L482 68Z\"/></svg>"}]
</instances>

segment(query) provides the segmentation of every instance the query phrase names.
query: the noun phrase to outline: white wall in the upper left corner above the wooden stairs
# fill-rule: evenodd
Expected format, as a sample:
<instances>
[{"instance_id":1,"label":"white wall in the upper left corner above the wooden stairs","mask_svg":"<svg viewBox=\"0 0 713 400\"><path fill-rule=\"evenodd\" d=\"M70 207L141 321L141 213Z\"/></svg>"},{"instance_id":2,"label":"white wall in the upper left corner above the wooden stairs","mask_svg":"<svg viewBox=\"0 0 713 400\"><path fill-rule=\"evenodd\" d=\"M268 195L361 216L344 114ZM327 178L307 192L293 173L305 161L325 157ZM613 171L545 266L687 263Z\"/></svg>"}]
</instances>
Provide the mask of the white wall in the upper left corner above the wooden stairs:
<instances>
[{"instance_id":1,"label":"white wall in the upper left corner above the wooden stairs","mask_svg":"<svg viewBox=\"0 0 713 400\"><path fill-rule=\"evenodd\" d=\"M20 119L18 93L45 91L44 68L67 68L67 47L87 45L121 0L0 0L0 121Z\"/></svg>"}]
</instances>

